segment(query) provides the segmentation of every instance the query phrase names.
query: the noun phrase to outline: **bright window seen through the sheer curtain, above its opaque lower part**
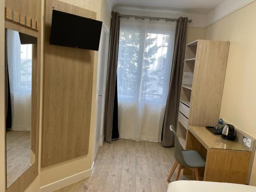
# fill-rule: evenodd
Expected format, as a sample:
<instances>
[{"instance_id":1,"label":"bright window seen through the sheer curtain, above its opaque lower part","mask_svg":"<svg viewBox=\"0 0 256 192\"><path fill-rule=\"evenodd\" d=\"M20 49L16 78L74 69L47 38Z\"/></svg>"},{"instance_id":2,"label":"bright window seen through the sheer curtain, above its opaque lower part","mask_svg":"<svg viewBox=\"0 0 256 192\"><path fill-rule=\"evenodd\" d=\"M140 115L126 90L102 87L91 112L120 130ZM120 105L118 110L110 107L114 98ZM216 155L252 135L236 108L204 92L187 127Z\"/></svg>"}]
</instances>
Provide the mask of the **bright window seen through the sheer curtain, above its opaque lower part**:
<instances>
[{"instance_id":1,"label":"bright window seen through the sheer curtain, above its opaque lower part","mask_svg":"<svg viewBox=\"0 0 256 192\"><path fill-rule=\"evenodd\" d=\"M166 102L175 24L121 20L117 67L118 100Z\"/></svg>"}]
</instances>

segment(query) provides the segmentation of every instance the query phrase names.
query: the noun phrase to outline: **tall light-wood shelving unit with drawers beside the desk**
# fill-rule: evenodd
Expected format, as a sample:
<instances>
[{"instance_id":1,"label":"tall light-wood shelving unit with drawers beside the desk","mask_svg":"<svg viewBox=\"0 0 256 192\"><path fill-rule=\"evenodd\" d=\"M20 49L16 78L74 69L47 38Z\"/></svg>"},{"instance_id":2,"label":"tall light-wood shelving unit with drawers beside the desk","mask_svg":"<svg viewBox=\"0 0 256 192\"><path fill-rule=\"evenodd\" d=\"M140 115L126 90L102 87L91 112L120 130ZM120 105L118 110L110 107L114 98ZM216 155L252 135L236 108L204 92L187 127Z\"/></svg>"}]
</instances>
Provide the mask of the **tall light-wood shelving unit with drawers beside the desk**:
<instances>
[{"instance_id":1,"label":"tall light-wood shelving unit with drawers beside the desk","mask_svg":"<svg viewBox=\"0 0 256 192\"><path fill-rule=\"evenodd\" d=\"M184 122L194 126L217 124L228 49L229 42L227 41L196 40L186 46L180 117L177 123L177 134L183 147L185 147L187 132Z\"/></svg>"}]
</instances>

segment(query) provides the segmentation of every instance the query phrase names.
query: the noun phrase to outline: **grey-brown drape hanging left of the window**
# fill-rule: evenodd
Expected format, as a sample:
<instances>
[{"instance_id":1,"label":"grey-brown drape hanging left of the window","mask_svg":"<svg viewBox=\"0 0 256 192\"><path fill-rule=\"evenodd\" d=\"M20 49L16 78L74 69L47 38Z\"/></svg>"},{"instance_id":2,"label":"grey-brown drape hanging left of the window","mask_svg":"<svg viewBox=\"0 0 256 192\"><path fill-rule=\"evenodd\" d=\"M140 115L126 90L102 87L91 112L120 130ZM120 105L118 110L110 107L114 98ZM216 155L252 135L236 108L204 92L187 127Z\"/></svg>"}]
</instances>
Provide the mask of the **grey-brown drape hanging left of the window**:
<instances>
[{"instance_id":1,"label":"grey-brown drape hanging left of the window","mask_svg":"<svg viewBox=\"0 0 256 192\"><path fill-rule=\"evenodd\" d=\"M117 77L119 29L120 29L119 13L112 11L111 28L110 28L109 66L108 66L108 77L106 80L106 93L105 93L104 135L105 135L106 142L111 142L112 140L113 113L114 113L114 101L115 101L115 89L116 89L116 77Z\"/></svg>"}]
</instances>

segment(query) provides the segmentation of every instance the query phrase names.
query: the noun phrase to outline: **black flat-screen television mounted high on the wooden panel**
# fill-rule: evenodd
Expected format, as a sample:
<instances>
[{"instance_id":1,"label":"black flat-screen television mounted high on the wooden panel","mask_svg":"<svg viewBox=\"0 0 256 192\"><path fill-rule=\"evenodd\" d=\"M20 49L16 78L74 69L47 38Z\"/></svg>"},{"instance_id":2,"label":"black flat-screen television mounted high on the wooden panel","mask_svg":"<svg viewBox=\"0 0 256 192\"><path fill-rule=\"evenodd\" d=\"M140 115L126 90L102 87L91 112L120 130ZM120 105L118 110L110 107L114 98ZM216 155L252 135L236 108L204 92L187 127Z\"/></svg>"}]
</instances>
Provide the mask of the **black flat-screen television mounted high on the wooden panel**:
<instances>
[{"instance_id":1,"label":"black flat-screen television mounted high on the wooden panel","mask_svg":"<svg viewBox=\"0 0 256 192\"><path fill-rule=\"evenodd\" d=\"M98 51L101 27L98 20L53 10L50 44Z\"/></svg>"}]
</instances>

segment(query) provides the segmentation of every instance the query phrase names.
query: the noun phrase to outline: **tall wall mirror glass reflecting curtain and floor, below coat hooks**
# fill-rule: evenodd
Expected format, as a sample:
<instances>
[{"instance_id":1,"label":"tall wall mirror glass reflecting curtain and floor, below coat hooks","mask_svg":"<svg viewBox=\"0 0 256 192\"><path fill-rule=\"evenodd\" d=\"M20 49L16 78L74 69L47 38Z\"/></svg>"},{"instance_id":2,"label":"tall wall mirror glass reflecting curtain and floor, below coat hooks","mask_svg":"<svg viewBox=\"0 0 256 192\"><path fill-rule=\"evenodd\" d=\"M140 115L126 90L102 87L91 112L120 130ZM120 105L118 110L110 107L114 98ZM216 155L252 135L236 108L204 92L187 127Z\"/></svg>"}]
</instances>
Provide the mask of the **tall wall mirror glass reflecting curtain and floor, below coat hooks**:
<instances>
[{"instance_id":1,"label":"tall wall mirror glass reflecting curtain and floor, below coat hooks","mask_svg":"<svg viewBox=\"0 0 256 192\"><path fill-rule=\"evenodd\" d=\"M6 29L7 188L34 162L31 150L32 37Z\"/></svg>"}]
</instances>

